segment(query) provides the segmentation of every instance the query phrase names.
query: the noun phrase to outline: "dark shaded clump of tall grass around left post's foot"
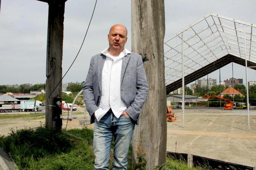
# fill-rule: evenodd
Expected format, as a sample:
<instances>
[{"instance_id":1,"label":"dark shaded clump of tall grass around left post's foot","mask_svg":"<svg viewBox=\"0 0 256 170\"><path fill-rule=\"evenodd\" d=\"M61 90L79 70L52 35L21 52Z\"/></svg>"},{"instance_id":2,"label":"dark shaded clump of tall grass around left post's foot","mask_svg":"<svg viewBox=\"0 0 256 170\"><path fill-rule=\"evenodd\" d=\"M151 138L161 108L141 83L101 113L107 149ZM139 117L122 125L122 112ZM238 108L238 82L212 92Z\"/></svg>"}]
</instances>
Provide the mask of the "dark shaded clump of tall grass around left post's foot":
<instances>
[{"instance_id":1,"label":"dark shaded clump of tall grass around left post's foot","mask_svg":"<svg viewBox=\"0 0 256 170\"><path fill-rule=\"evenodd\" d=\"M0 137L0 146L11 153L19 169L34 169L30 165L35 161L68 152L71 142L66 135L40 126L12 129L7 137Z\"/></svg>"}]
</instances>

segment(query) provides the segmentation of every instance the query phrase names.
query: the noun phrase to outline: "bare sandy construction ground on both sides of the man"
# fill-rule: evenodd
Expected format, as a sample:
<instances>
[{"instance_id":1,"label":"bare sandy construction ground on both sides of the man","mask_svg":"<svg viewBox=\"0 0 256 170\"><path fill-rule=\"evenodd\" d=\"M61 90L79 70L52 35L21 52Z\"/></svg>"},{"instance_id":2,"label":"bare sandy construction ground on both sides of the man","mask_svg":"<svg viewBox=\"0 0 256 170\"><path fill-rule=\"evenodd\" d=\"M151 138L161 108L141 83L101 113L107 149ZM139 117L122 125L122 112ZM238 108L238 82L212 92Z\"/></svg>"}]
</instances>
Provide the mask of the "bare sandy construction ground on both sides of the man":
<instances>
[{"instance_id":1,"label":"bare sandy construction ground on both sides of the man","mask_svg":"<svg viewBox=\"0 0 256 170\"><path fill-rule=\"evenodd\" d=\"M83 108L78 107L78 111L83 112ZM73 112L72 117L76 118L68 121L67 129L83 127L79 125L79 120L84 120L84 114L76 114L78 111ZM250 109L250 132L247 110L186 108L184 127L182 110L172 111L177 115L177 121L167 122L167 151L256 166L256 109ZM64 114L67 114L66 111ZM44 122L44 117L0 118L0 135L8 135L11 128L36 127ZM66 123L67 120L62 121L63 128L66 128ZM93 124L88 127L93 128Z\"/></svg>"}]
</instances>

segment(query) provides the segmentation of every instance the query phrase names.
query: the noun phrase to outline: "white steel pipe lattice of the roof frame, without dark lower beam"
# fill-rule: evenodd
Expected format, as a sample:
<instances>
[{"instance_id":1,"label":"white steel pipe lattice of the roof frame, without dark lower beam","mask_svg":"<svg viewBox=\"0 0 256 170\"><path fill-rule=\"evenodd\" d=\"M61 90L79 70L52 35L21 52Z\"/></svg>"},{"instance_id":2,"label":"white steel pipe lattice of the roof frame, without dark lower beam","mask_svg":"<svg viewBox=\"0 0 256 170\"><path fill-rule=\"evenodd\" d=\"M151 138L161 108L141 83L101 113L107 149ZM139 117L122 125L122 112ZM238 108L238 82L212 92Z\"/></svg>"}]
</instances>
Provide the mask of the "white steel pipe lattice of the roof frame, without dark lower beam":
<instances>
[{"instance_id":1,"label":"white steel pipe lattice of the roof frame, without dark lower beam","mask_svg":"<svg viewBox=\"0 0 256 170\"><path fill-rule=\"evenodd\" d=\"M211 18L210 21L209 21L209 17ZM216 21L215 21L216 18L218 18L218 21L219 21L219 22L216 22ZM234 26L232 27L232 26L227 26L227 25L225 25L225 24L222 24L221 19L224 19L224 20L228 20L228 21L233 22ZM199 32L196 32L196 31L194 30L193 26L197 25L198 23L200 23L200 22L202 22L202 21L206 21L207 26L204 27L203 29L201 29ZM213 21L213 23L210 23L210 24L209 24L209 22L211 22L211 21ZM240 29L237 29L236 23L244 24L244 25L246 25L246 26L250 26L250 27L251 27L250 32L246 32L246 31L242 31L242 30L240 30ZM216 30L215 30L215 28L213 28L213 26L216 27ZM218 26L220 26L220 27L222 28L222 30L219 30L219 27L218 27ZM239 41L239 39L238 39L238 38L243 38L243 39L244 39L244 37L239 36L237 32L245 32L245 33L247 33L248 35L250 35L250 45L249 45L249 43L247 43L247 42L245 41L245 44L249 46L249 48L247 48L247 49L249 50L249 53L248 53L249 56L250 56L249 60L252 61L252 62L254 62L255 59L252 59L252 58L255 58L254 55L256 55L256 54L251 52L251 51L254 51L254 49L251 48L251 47L255 47L255 45L252 45L251 42L256 42L256 41L253 40L253 39L251 39L251 38L252 38L252 35L254 35L254 34L252 33L252 27L256 27L256 25L254 25L254 24L249 24L249 23L245 23L245 22L239 21L239 20L234 20L234 19L232 19L232 18L223 17L223 16L216 15L216 14L209 14L208 16L206 16L206 17L204 17L204 18L201 18L199 21L197 21L197 22L195 22L194 24L190 25L189 27L187 27L187 28L184 29L183 31L181 31L181 32L177 33L176 35L172 36L171 38L167 39L164 43L165 43L165 45L167 45L170 49L168 49L167 51L165 51L165 53L174 50L174 51L176 51L176 53L175 53L172 57L177 56L177 54L180 54L181 52L178 51L178 50L176 50L176 49L174 49L174 48L178 47L181 43L178 43L178 44L175 45L174 47L171 47L170 45L168 45L168 42L171 41L171 40L172 40L173 38L175 38L175 37L180 38L180 34L186 32L186 31L189 30L189 29L193 30L194 33L195 33L195 35L192 35L192 36L190 36L189 38L187 38L186 40L184 40L184 42L188 45L188 47L187 47L186 49L183 48L183 50L187 50L188 48L194 49L194 50L190 51L189 54L193 53L194 51L197 53L197 54L195 54L195 55L192 56L192 57L187 57L187 60L184 61L184 62L186 63L187 61L191 60L192 63L195 63L195 64L192 65L192 66L184 66L184 67L187 68L187 69L184 69L184 71L185 71L184 74L187 74L187 75L188 75L188 74L190 74L190 72L196 71L196 68L198 68L198 67L203 68L203 65L205 65L206 63L210 63L210 62L215 58L215 57L212 57L212 56L215 56L215 55L216 55L216 53L213 53L215 50L217 51L217 53L221 53L221 54L223 54L223 55L226 54L226 53L228 53L228 54L229 54L229 53L232 53L232 54L234 54L234 56L238 56L238 54L239 54L239 56L240 56L241 58L244 58L244 56L243 56L244 50L241 50L241 49L243 48L243 47L242 47L242 44L243 44L243 43L242 43L241 41ZM236 34L227 32L226 30L224 30L224 28L228 28L228 29L235 30L235 31L236 31ZM211 33L210 33L210 34L207 34L207 36L201 36L201 37L200 37L199 34L202 33L202 32L204 32L204 31L206 31L206 30L211 31ZM208 43L205 43L205 42L202 41L202 40L208 38L209 36L214 35L216 32L219 33L219 36L215 36L215 38L213 38L213 39L218 39L218 38L220 37L220 38L222 39L223 45L219 45L219 46L218 46L217 48L215 48L214 50L211 50L210 48L212 48L212 47L215 46L216 44L213 45L212 47L208 47L207 44L209 43L209 41L208 41ZM230 36L228 37L228 36L223 35L223 34L230 35L230 36L235 36L235 37L236 37L236 40L233 39L233 38L231 38ZM189 45L187 41L190 40L191 38L194 38L195 36L198 36L198 38L197 38L198 40L197 40L196 42L194 42L192 45ZM255 36L256 36L256 35L255 35ZM232 43L232 42L230 42L230 41L226 41L226 40L224 40L224 38L229 39L229 40L232 40L232 41L235 41L235 42L237 42L237 44ZM197 47L197 48L193 48L194 45L196 45L197 43L199 43L199 42L201 42L201 41L203 42L202 45L200 45L200 46ZM248 41L248 40L247 40L247 41ZM212 41L210 41L210 42L212 42ZM220 43L220 42L218 42L218 43ZM200 52L197 51L197 50L200 49L200 48L204 48L204 46L205 46L206 48L205 48L203 51L200 51ZM226 48L223 48L223 46L225 46ZM238 47L238 51L239 51L239 52L235 50L236 48L235 48L234 46L237 46L237 47ZM221 48L221 50L220 50L220 48ZM195 50L195 49L196 49L196 50ZM226 49L226 50L225 50L225 49ZM204 54L207 50L210 50L210 52ZM220 50L220 51L218 51L218 50ZM224 52L222 52L222 51L224 51ZM233 51L233 52L232 52L232 51ZM242 51L242 52L241 52L241 51ZM205 56L205 55L208 55L209 53L212 53L213 55L210 56L210 57L204 58L204 56ZM236 54L236 53L238 53L238 54ZM187 55L189 55L189 54L187 54ZM221 56L221 54L219 54L218 57ZM187 56L187 55L185 54L184 56ZM201 57L198 57L198 55L200 55ZM197 59L194 59L194 57L197 57ZM216 59L218 59L218 57L216 57ZM166 58L166 59L165 59L165 63L166 63L168 60L172 60L172 59L170 59L170 58L168 58L168 57L165 57L165 58ZM207 61L204 62L204 63L197 62L197 60L202 60L202 59L203 59L203 60L207 60ZM178 60L180 60L180 57L179 57L178 59L172 60L173 62L172 62L172 63L169 63L169 64L166 66L166 68L168 68L168 69L165 71L165 76L168 77L168 78L166 79L166 81L167 81L166 83L167 83L167 84L168 84L169 82L171 82L170 79L172 79L172 81L175 81L174 79L181 77L181 76L179 76L180 73L181 73L180 67L179 67L179 68L176 68L177 66L179 66L179 65L181 64L180 62L178 62ZM175 65L175 66L172 67L172 68L169 68L169 67L168 67L168 66L172 65L172 64L175 63L175 62L177 63L177 65ZM197 67L194 68L194 66L197 66ZM166 74L166 73L167 73L167 74ZM175 74L173 74L173 73L175 73ZM178 74L177 74L177 73L178 73ZM176 77L176 78L173 79L173 77Z\"/></svg>"}]
</instances>

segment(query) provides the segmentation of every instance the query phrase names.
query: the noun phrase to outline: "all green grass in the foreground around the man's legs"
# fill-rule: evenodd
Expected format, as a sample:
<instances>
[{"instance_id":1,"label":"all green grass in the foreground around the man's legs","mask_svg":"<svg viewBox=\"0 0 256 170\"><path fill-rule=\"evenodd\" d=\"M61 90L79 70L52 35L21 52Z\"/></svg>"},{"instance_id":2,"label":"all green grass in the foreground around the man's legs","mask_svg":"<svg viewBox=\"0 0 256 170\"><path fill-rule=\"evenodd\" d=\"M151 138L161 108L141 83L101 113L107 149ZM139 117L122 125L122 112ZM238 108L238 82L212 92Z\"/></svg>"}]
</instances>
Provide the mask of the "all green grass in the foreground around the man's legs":
<instances>
[{"instance_id":1,"label":"all green grass in the foreground around the man's legs","mask_svg":"<svg viewBox=\"0 0 256 170\"><path fill-rule=\"evenodd\" d=\"M20 170L93 170L93 130L71 129L69 134L50 131L43 126L13 130L8 136L0 137L0 146L10 152ZM71 138L71 139L70 139ZM113 150L110 156L113 165ZM189 168L186 161L172 157L166 159L166 167L172 170L207 170ZM131 145L128 153L128 170L131 167Z\"/></svg>"}]
</instances>

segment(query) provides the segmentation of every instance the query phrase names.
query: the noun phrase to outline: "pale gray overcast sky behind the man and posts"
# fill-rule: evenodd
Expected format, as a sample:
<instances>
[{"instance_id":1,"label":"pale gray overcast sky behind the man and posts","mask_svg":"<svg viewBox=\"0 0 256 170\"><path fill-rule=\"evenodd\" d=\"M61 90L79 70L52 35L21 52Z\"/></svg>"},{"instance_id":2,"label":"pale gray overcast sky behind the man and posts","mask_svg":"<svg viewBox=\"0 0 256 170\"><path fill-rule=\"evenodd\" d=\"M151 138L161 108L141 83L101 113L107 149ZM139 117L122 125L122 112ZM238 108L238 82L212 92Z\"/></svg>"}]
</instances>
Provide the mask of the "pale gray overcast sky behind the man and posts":
<instances>
[{"instance_id":1,"label":"pale gray overcast sky behind the man and posts","mask_svg":"<svg viewBox=\"0 0 256 170\"><path fill-rule=\"evenodd\" d=\"M94 0L67 0L64 19L62 73L67 71L84 38ZM255 0L165 0L165 39L209 13L256 24ZM48 4L37 0L2 0L0 9L0 84L45 83ZM114 24L128 29L131 50L130 0L98 0L87 38L74 65L62 81L82 82L90 58L108 47ZM248 81L256 71L248 69ZM221 69L221 81L232 77L231 63ZM234 64L234 77L243 78L245 67ZM209 74L219 81L219 72Z\"/></svg>"}]
</instances>

